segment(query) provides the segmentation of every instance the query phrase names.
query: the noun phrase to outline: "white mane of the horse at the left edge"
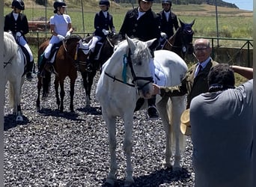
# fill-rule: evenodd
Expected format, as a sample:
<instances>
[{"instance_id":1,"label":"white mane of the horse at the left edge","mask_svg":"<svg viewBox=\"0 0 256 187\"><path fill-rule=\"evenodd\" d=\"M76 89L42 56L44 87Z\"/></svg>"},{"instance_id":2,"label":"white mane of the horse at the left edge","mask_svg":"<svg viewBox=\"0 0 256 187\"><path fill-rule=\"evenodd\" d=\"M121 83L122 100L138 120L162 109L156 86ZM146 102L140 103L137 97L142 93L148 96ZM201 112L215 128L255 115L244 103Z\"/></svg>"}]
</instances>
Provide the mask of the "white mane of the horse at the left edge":
<instances>
[{"instance_id":1,"label":"white mane of the horse at the left edge","mask_svg":"<svg viewBox=\"0 0 256 187\"><path fill-rule=\"evenodd\" d=\"M4 32L4 58L11 58L17 53L18 47L13 35Z\"/></svg>"}]
</instances>

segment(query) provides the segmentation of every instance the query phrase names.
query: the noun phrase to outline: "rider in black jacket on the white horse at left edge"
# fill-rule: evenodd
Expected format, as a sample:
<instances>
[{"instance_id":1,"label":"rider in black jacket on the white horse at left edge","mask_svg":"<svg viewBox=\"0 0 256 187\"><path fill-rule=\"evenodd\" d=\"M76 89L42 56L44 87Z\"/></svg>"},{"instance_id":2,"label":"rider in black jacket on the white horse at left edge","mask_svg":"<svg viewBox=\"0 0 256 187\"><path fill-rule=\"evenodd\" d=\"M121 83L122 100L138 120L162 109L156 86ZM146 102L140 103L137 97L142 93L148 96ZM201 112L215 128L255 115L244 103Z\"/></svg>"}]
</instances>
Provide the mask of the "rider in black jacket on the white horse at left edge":
<instances>
[{"instance_id":1,"label":"rider in black jacket on the white horse at left edge","mask_svg":"<svg viewBox=\"0 0 256 187\"><path fill-rule=\"evenodd\" d=\"M5 16L4 19L4 31L11 32L16 39L16 42L25 47L29 55L29 62L26 65L26 78L31 81L33 77L31 72L34 65L34 58L31 52L28 42L25 38L25 34L28 33L28 19L22 10L25 10L25 4L22 0L13 0L11 7L13 11Z\"/></svg>"}]
</instances>

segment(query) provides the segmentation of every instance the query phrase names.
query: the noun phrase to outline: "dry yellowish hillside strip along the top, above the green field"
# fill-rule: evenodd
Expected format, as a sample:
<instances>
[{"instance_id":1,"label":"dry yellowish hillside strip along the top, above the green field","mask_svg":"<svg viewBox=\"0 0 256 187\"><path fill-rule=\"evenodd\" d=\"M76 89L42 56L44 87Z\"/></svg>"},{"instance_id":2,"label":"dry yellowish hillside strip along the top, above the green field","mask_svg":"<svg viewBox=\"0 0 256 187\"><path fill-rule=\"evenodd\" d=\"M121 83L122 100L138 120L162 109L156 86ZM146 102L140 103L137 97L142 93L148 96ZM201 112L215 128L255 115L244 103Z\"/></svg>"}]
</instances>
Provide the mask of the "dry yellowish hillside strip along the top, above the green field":
<instances>
[{"instance_id":1,"label":"dry yellowish hillside strip along the top, above the green field","mask_svg":"<svg viewBox=\"0 0 256 187\"><path fill-rule=\"evenodd\" d=\"M25 2L25 9L44 9L45 7L36 4L34 0L23 0ZM52 9L52 4L54 0L47 0L47 8ZM83 8L85 12L95 12L98 11L98 1L96 0L66 0L68 5L68 10L81 10ZM10 8L11 1L4 0L4 9ZM133 4L134 7L137 3ZM125 12L126 10L132 8L132 4L116 4L114 1L111 2L110 11L115 12ZM162 5L159 3L153 4L153 10L158 12L162 10ZM177 15L190 15L190 16L213 16L216 13L216 7L209 4L173 4L172 10L177 13ZM248 10L240 10L231 7L218 7L219 16L252 16L253 12Z\"/></svg>"}]
</instances>

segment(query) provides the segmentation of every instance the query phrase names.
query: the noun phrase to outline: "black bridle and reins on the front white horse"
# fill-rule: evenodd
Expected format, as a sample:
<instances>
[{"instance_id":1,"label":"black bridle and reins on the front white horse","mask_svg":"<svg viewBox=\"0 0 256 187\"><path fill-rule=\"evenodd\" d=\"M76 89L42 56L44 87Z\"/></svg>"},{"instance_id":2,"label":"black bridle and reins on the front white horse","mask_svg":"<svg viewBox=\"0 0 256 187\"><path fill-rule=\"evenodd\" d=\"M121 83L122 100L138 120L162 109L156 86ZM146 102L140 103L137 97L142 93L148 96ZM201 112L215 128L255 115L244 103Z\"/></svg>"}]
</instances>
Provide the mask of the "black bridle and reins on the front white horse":
<instances>
[{"instance_id":1,"label":"black bridle and reins on the front white horse","mask_svg":"<svg viewBox=\"0 0 256 187\"><path fill-rule=\"evenodd\" d=\"M137 88L138 91L140 91L146 85L148 85L151 82L153 82L153 77L152 76L149 76L149 77L136 76L134 68L132 66L132 60L131 60L131 57L130 57L131 55L132 54L131 54L131 50L130 49L128 51L128 55L126 55L126 54L124 55L123 80L117 79L115 76L111 76L109 73L106 73L106 72L105 72L105 75L109 76L110 78L112 78L113 82L118 81L118 82L124 83L125 85L129 85L131 87L135 87L135 88ZM126 68L127 68L127 65L129 66L129 68L131 70L131 73L132 73L132 84L127 83L127 80L126 80L126 73L127 73ZM144 81L147 81L147 82L145 82L144 85L138 86L137 83L136 83L138 80L144 80Z\"/></svg>"}]
</instances>

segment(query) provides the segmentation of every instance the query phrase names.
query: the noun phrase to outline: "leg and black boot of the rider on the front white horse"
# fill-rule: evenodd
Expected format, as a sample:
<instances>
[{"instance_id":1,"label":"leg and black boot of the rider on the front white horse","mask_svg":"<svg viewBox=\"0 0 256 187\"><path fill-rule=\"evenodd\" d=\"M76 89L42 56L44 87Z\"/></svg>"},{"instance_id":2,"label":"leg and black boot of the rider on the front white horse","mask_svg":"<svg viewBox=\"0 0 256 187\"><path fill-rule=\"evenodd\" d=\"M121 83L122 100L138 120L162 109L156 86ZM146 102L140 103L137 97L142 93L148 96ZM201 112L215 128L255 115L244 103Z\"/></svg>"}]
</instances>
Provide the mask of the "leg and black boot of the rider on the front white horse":
<instances>
[{"instance_id":1,"label":"leg and black boot of the rider on the front white horse","mask_svg":"<svg viewBox=\"0 0 256 187\"><path fill-rule=\"evenodd\" d=\"M155 82L155 65L153 64L153 58L150 59L150 73L153 77L153 82ZM147 114L150 119L157 119L158 113L156 110L156 95L152 96L150 99L147 99Z\"/></svg>"}]
</instances>

